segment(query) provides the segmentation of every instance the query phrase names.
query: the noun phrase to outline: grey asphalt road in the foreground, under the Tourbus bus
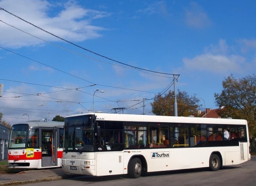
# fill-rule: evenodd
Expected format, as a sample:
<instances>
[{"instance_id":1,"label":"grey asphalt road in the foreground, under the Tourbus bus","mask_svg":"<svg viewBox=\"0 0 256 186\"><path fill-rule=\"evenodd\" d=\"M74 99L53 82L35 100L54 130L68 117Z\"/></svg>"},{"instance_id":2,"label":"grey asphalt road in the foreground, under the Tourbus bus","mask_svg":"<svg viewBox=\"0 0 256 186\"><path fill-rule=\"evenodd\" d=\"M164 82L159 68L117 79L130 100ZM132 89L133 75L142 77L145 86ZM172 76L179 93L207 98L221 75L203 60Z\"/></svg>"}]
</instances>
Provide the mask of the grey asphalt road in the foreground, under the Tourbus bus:
<instances>
[{"instance_id":1,"label":"grey asphalt road in the foreground, under the Tourbus bus","mask_svg":"<svg viewBox=\"0 0 256 186\"><path fill-rule=\"evenodd\" d=\"M160 173L150 173L148 176L141 176L138 179L130 179L127 175L101 177L77 176L73 179L39 182L26 185L256 185L256 156L252 156L252 159L244 164L226 166L219 171L210 171L207 168L165 171Z\"/></svg>"}]
</instances>

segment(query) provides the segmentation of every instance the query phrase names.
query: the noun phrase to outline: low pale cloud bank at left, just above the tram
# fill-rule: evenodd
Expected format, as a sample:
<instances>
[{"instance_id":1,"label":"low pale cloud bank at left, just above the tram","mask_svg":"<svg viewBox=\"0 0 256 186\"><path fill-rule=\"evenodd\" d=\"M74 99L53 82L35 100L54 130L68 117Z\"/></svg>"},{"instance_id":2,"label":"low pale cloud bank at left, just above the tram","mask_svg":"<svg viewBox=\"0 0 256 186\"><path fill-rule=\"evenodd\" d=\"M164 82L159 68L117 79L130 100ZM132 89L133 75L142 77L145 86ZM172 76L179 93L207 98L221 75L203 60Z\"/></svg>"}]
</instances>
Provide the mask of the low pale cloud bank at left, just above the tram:
<instances>
[{"instance_id":1,"label":"low pale cloud bank at left, just above the tram","mask_svg":"<svg viewBox=\"0 0 256 186\"><path fill-rule=\"evenodd\" d=\"M66 84L63 88L75 88L75 84ZM37 95L38 94L38 95ZM48 117L48 108L50 119L55 115L65 117L68 114L78 114L82 110L87 111L78 104L84 96L83 92L76 90L65 90L61 88L49 88L48 91L40 91L34 86L21 84L20 86L12 86L12 88L4 90L4 96L1 98L1 110L3 119L11 124L27 120L28 114L30 120L41 120ZM4 105L4 106L3 106ZM38 106L46 105L46 106ZM70 109L73 111L69 111ZM77 110L77 111L76 111Z\"/></svg>"}]
</instances>

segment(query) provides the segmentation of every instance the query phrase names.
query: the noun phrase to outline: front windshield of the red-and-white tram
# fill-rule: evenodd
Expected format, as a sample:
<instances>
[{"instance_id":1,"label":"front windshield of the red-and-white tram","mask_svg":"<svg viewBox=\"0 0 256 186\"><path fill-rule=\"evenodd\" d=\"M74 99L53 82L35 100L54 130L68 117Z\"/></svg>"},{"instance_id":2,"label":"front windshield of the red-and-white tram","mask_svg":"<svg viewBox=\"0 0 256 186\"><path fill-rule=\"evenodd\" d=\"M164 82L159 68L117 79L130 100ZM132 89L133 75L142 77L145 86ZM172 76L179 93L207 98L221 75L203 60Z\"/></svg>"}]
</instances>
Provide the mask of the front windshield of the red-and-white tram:
<instances>
[{"instance_id":1,"label":"front windshield of the red-and-white tram","mask_svg":"<svg viewBox=\"0 0 256 186\"><path fill-rule=\"evenodd\" d=\"M26 138L29 125L13 125L10 132L9 149L26 147Z\"/></svg>"}]
</instances>

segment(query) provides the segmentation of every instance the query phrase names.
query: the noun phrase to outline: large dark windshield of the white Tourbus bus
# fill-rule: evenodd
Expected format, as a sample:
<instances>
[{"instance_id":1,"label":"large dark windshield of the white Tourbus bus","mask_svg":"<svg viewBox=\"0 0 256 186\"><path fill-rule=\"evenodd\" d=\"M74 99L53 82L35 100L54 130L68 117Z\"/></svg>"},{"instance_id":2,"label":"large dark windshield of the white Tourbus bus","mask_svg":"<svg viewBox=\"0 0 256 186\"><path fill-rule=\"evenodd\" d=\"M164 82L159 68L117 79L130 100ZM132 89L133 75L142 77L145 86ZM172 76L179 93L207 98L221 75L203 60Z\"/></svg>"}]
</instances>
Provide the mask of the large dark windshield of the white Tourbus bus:
<instances>
[{"instance_id":1,"label":"large dark windshield of the white Tourbus bus","mask_svg":"<svg viewBox=\"0 0 256 186\"><path fill-rule=\"evenodd\" d=\"M66 118L63 151L94 151L94 126L90 120L91 115Z\"/></svg>"}]
</instances>

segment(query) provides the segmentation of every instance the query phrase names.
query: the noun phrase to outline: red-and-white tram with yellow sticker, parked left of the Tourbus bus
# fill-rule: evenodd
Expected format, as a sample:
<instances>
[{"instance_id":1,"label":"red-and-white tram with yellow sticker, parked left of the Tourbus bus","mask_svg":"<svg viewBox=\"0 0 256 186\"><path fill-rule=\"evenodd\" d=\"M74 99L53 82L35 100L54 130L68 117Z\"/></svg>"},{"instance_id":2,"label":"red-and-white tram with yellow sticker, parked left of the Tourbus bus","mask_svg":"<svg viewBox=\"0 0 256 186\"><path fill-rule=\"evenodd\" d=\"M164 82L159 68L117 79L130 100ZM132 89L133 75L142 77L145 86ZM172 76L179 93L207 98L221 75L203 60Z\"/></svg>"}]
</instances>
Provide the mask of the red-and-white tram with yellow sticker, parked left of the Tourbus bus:
<instances>
[{"instance_id":1,"label":"red-and-white tram with yellow sticker, parked left of the Tourbus bus","mask_svg":"<svg viewBox=\"0 0 256 186\"><path fill-rule=\"evenodd\" d=\"M64 122L30 121L12 125L9 139L10 168L60 167Z\"/></svg>"}]
</instances>

